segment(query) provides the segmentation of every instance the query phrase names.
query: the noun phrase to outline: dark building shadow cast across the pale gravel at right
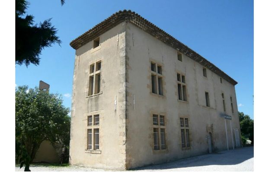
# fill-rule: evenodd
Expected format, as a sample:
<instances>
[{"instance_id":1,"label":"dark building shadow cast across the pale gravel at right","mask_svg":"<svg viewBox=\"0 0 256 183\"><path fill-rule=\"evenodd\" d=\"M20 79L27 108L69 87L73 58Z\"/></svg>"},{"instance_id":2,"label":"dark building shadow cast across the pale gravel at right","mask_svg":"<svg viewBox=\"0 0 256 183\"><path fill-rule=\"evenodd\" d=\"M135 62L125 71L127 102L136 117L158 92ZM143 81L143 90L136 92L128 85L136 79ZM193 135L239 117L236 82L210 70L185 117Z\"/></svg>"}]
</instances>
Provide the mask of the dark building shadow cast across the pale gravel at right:
<instances>
[{"instance_id":1,"label":"dark building shadow cast across the pale gravel at right","mask_svg":"<svg viewBox=\"0 0 256 183\"><path fill-rule=\"evenodd\" d=\"M131 170L164 170L183 167L198 167L207 165L234 165L253 158L253 147L232 149L229 151L215 152L191 158L171 161L169 163L155 164Z\"/></svg>"}]
</instances>

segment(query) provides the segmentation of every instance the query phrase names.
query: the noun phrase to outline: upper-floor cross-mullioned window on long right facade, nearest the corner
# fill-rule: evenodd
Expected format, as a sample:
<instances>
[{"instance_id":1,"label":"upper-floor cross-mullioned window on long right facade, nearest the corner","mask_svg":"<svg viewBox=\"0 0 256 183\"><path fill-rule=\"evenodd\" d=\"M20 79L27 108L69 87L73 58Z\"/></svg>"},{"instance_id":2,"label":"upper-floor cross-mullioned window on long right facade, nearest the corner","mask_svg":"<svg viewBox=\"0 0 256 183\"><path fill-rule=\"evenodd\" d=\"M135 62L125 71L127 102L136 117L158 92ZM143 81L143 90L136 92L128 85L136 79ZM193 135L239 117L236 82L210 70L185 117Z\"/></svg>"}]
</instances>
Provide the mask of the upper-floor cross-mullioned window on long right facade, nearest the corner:
<instances>
[{"instance_id":1,"label":"upper-floor cross-mullioned window on long right facade, nearest the corner","mask_svg":"<svg viewBox=\"0 0 256 183\"><path fill-rule=\"evenodd\" d=\"M151 92L158 95L163 95L163 76L162 66L151 62Z\"/></svg>"}]
</instances>

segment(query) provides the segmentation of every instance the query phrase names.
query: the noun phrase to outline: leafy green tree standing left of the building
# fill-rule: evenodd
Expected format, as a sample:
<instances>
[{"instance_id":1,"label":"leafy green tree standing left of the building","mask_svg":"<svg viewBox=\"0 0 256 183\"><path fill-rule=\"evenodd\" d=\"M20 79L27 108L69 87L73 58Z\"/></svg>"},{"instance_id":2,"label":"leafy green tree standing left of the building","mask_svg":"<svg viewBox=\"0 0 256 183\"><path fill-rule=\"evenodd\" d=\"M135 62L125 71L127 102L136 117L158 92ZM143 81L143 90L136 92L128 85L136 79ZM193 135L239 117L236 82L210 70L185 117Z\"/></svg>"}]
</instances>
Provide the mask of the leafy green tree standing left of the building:
<instances>
[{"instance_id":1,"label":"leafy green tree standing left of the building","mask_svg":"<svg viewBox=\"0 0 256 183\"><path fill-rule=\"evenodd\" d=\"M57 94L19 86L15 92L16 124L16 161L26 164L35 158L44 140L69 145L70 117L69 108L62 104Z\"/></svg>"}]
</instances>

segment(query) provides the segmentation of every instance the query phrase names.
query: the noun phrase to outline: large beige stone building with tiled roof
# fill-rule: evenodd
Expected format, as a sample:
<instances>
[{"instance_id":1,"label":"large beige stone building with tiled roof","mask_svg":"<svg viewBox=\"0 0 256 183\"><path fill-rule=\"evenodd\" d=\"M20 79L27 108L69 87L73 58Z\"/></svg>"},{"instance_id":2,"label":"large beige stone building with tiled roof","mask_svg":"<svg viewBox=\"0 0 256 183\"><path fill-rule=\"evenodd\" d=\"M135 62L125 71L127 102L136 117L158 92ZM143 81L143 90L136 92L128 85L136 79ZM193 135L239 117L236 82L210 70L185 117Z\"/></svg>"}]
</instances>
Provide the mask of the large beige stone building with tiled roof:
<instances>
[{"instance_id":1,"label":"large beige stone building with tiled roof","mask_svg":"<svg viewBox=\"0 0 256 183\"><path fill-rule=\"evenodd\" d=\"M70 164L127 170L240 147L237 82L137 13L70 45Z\"/></svg>"}]
</instances>

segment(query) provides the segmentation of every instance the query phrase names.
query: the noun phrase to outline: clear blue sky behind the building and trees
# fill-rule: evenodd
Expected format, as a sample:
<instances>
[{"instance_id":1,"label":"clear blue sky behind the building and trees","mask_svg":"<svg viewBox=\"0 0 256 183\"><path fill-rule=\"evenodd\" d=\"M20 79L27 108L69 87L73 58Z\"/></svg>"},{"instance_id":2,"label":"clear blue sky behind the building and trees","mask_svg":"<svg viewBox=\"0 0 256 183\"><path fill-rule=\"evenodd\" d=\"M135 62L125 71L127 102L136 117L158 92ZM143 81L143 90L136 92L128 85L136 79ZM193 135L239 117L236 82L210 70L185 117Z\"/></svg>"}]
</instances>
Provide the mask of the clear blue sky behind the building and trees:
<instances>
[{"instance_id":1,"label":"clear blue sky behind the building and trees","mask_svg":"<svg viewBox=\"0 0 256 183\"><path fill-rule=\"evenodd\" d=\"M113 13L131 9L235 79L238 110L253 118L253 0L28 0L35 23L52 18L62 44L42 51L39 66L15 66L16 85L50 85L71 108L75 50L70 41Z\"/></svg>"}]
</instances>

